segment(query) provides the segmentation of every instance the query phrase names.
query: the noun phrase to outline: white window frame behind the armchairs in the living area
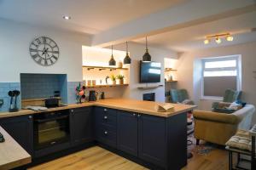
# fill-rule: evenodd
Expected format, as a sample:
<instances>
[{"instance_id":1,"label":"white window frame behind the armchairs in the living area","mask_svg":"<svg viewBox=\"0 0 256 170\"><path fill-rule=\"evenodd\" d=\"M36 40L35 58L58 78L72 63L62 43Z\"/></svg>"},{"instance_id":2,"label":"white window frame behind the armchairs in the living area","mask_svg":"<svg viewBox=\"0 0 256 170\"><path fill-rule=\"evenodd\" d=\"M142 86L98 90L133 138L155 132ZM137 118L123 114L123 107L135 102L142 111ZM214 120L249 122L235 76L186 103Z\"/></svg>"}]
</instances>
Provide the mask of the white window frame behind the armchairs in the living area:
<instances>
[{"instance_id":1,"label":"white window frame behind the armchairs in the living area","mask_svg":"<svg viewBox=\"0 0 256 170\"><path fill-rule=\"evenodd\" d=\"M236 59L236 67L223 67L223 68L207 68L205 69L205 63L211 61L231 60ZM211 57L201 59L202 71L201 71L201 99L209 100L223 100L223 96L205 96L204 95L204 71L230 71L236 68L236 90L241 90L241 55L229 55L221 57Z\"/></svg>"}]
</instances>

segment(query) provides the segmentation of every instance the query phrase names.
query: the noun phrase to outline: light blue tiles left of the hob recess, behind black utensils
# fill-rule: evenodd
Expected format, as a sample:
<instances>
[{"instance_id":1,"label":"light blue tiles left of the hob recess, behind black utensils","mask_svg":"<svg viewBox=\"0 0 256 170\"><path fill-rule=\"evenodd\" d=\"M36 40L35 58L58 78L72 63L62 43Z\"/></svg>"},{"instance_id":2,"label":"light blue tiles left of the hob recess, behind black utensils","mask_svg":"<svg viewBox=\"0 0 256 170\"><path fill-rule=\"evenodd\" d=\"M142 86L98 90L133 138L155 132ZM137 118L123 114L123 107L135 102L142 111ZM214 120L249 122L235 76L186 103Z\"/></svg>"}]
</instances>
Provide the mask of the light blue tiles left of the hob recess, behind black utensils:
<instances>
[{"instance_id":1,"label":"light blue tiles left of the hob recess, behind black utensils","mask_svg":"<svg viewBox=\"0 0 256 170\"><path fill-rule=\"evenodd\" d=\"M19 90L20 91L20 82L0 82L0 99L3 99L3 105L0 106L0 111L8 111L10 97L8 95L9 91ZM20 96L17 98L17 105L20 108Z\"/></svg>"}]
</instances>

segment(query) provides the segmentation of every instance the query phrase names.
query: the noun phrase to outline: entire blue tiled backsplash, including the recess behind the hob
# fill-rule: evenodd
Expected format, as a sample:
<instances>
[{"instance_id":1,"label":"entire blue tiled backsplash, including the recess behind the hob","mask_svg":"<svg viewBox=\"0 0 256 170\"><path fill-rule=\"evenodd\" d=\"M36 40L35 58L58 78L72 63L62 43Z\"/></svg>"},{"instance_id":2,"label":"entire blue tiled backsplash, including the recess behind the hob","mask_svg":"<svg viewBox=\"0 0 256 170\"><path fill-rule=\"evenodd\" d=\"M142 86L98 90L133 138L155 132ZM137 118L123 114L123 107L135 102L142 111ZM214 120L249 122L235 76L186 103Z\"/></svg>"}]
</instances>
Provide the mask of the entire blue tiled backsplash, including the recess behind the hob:
<instances>
[{"instance_id":1,"label":"entire blue tiled backsplash, including the recess behind the hob","mask_svg":"<svg viewBox=\"0 0 256 170\"><path fill-rule=\"evenodd\" d=\"M22 77L22 78L21 78ZM58 78L56 78L58 77ZM67 82L67 75L22 74L20 82L0 82L0 99L3 106L0 111L8 111L10 90L20 90L17 105L21 108L21 98L44 98L54 95L55 90L61 91L61 100L64 104L76 103L75 87L79 82Z\"/></svg>"}]
</instances>

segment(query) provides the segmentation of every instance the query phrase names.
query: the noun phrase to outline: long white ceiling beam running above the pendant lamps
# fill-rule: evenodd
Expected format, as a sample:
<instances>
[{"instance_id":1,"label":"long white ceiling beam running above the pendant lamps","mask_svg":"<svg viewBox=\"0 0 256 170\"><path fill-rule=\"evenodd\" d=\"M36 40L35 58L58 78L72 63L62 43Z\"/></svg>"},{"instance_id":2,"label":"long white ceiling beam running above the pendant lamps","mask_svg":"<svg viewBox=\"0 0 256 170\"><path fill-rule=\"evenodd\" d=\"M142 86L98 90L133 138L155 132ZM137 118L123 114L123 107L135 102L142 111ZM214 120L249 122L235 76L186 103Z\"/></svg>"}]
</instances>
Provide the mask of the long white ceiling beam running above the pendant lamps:
<instances>
[{"instance_id":1,"label":"long white ceiling beam running above the pendant lamps","mask_svg":"<svg viewBox=\"0 0 256 170\"><path fill-rule=\"evenodd\" d=\"M191 0L96 34L92 46L111 44L220 20L256 10L254 0Z\"/></svg>"}]
</instances>

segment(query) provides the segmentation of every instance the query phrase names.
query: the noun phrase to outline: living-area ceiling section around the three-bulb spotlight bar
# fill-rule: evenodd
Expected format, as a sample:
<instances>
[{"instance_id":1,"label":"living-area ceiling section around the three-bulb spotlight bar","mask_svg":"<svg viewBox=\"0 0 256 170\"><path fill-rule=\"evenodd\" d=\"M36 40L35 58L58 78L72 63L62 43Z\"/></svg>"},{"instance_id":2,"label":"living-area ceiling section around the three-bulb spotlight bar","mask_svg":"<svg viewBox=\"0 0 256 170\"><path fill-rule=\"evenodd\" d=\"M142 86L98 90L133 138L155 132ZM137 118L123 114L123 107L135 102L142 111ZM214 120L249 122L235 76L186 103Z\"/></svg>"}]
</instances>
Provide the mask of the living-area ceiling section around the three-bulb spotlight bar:
<instances>
[{"instance_id":1,"label":"living-area ceiling section around the three-bulb spotlight bar","mask_svg":"<svg viewBox=\"0 0 256 170\"><path fill-rule=\"evenodd\" d=\"M255 28L256 11L150 36L148 37L148 44L161 48L170 48L178 52L189 51L196 48L234 45L256 41ZM204 45L203 40L206 36L226 32L232 34L234 37L233 42L225 42L223 40L221 44L210 42ZM145 43L145 39L139 38L133 42Z\"/></svg>"}]
</instances>

